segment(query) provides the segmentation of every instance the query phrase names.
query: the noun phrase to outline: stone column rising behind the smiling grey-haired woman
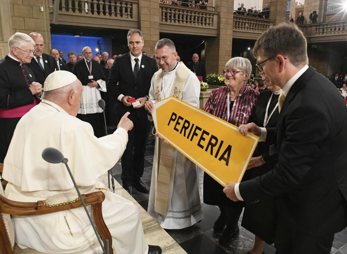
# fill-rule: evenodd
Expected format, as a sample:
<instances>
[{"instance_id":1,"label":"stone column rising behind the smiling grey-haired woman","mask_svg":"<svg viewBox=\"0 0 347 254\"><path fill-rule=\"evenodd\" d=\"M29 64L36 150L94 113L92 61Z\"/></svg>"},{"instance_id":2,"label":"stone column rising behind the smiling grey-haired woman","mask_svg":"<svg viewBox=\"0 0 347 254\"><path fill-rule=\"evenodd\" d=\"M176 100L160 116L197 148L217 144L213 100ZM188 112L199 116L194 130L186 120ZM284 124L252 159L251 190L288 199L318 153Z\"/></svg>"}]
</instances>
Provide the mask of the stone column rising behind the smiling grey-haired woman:
<instances>
[{"instance_id":1,"label":"stone column rising behind the smiling grey-haired woman","mask_svg":"<svg viewBox=\"0 0 347 254\"><path fill-rule=\"evenodd\" d=\"M211 6L212 6L211 1ZM210 4L210 2L209 2ZM231 58L233 29L233 0L215 0L218 16L217 37L205 41L206 73L222 74L225 63Z\"/></svg>"}]
</instances>

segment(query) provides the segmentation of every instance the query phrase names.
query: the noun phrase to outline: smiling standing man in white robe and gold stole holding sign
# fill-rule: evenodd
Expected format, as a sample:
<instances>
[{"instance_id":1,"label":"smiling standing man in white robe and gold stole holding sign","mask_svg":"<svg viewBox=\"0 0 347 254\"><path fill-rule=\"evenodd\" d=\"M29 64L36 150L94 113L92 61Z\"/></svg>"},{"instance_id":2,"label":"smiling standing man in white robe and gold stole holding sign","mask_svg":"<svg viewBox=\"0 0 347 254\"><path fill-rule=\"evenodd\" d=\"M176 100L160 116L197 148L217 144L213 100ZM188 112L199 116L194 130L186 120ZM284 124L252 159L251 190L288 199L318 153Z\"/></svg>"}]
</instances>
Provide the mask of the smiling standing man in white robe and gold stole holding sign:
<instances>
[{"instance_id":1,"label":"smiling standing man in white robe and gold stole holding sign","mask_svg":"<svg viewBox=\"0 0 347 254\"><path fill-rule=\"evenodd\" d=\"M145 109L151 112L154 102L170 96L199 107L200 82L177 61L175 44L159 40L155 56L160 70L152 77ZM195 164L159 138L155 141L148 213L165 229L190 227L203 218Z\"/></svg>"}]
</instances>

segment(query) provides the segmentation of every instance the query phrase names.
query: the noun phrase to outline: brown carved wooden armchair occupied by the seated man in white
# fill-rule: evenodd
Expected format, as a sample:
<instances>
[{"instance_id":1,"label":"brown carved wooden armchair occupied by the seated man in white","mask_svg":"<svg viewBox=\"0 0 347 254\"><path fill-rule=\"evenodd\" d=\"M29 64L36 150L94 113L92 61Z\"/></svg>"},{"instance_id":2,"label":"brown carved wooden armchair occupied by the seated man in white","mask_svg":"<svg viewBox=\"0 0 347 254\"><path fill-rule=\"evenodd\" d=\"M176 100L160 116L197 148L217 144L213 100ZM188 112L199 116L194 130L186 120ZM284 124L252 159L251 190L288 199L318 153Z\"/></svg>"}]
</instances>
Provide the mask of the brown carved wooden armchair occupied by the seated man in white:
<instances>
[{"instance_id":1,"label":"brown carved wooden armchair occupied by the seated man in white","mask_svg":"<svg viewBox=\"0 0 347 254\"><path fill-rule=\"evenodd\" d=\"M94 193L89 193L85 195L82 194L82 198L86 206L92 206L94 222L104 242L104 246L106 246L106 239L109 239L110 254L113 254L111 234L105 224L105 221L102 215L102 202L105 200L104 193L94 192ZM5 226L4 216L6 214L30 216L30 215L55 213L55 212L74 209L78 207L82 207L82 203L79 199L76 199L70 202L60 203L57 205L49 205L49 204L46 204L45 201L38 201L36 203L11 201L5 198L3 195L0 195L0 253L1 254L16 254L17 253L17 252L13 252L13 249L12 249L13 244L11 244L10 235L9 235L10 230ZM8 227L12 226L11 221L10 223L7 223L7 226ZM21 252L21 253L27 253L27 252ZM41 252L35 252L35 253L41 253Z\"/></svg>"}]
</instances>

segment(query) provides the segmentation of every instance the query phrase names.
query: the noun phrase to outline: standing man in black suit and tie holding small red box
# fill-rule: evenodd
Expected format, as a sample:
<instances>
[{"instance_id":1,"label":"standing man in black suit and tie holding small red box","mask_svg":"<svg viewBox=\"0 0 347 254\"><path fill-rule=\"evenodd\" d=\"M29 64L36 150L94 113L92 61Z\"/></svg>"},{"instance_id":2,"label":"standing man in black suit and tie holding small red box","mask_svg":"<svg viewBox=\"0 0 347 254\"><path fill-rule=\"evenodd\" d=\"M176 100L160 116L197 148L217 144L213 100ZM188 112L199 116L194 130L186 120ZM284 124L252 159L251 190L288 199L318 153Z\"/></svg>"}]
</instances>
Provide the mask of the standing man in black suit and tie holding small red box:
<instances>
[{"instance_id":1,"label":"standing man in black suit and tie holding small red box","mask_svg":"<svg viewBox=\"0 0 347 254\"><path fill-rule=\"evenodd\" d=\"M149 133L149 121L144 103L153 74L158 70L156 60L142 54L144 45L142 32L131 29L127 35L129 53L117 56L107 81L107 91L115 100L114 113L120 119L125 112L134 123L128 132L127 148L122 156L123 187L132 195L132 186L148 193L149 187L141 180L144 168L144 153ZM117 85L118 83L118 85ZM140 104L133 106L127 100L135 98Z\"/></svg>"}]
</instances>

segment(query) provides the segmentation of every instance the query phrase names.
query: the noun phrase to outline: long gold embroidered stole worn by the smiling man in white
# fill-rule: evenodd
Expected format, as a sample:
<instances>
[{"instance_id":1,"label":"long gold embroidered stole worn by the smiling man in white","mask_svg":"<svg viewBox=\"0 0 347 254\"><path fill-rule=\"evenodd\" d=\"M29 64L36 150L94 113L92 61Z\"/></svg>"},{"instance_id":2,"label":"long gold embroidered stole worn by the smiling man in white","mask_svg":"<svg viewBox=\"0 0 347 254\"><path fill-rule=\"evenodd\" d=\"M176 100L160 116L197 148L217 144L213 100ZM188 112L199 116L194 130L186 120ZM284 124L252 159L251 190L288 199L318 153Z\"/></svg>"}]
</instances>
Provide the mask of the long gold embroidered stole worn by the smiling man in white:
<instances>
[{"instance_id":1,"label":"long gold embroidered stole worn by the smiling man in white","mask_svg":"<svg viewBox=\"0 0 347 254\"><path fill-rule=\"evenodd\" d=\"M174 96L178 99L182 99L182 89L185 85L186 78L190 70L184 65L183 62L180 63L176 71L176 77L173 81L170 96ZM154 92L156 101L160 100L160 94L162 89L162 77L163 73L160 69L157 71L154 77ZM158 158L157 158L157 187L155 192L155 203L154 211L166 217L168 206L170 204L171 197L169 197L169 187L170 179L173 180L173 175L175 174L175 168L172 169L175 148L169 144L163 142L159 139L156 143L158 147ZM172 182L171 182L172 185Z\"/></svg>"}]
</instances>

